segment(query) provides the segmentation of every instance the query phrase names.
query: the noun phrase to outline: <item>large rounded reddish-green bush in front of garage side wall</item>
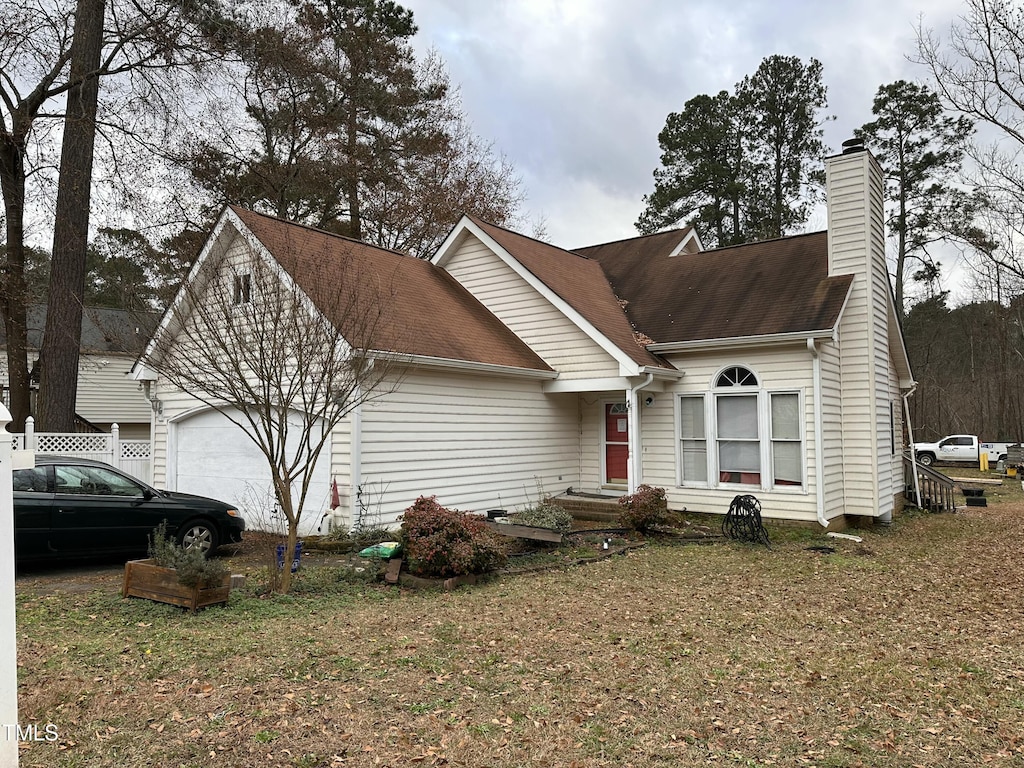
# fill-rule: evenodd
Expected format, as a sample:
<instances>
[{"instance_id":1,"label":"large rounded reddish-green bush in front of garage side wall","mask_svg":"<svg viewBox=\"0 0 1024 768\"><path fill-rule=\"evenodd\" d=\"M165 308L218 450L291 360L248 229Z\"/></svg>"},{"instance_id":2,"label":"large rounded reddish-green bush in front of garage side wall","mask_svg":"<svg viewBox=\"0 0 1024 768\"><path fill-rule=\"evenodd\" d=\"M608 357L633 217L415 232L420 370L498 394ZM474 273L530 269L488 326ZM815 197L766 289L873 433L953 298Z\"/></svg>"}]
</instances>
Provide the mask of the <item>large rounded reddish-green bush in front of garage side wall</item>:
<instances>
[{"instance_id":1,"label":"large rounded reddish-green bush in front of garage side wall","mask_svg":"<svg viewBox=\"0 0 1024 768\"><path fill-rule=\"evenodd\" d=\"M401 546L410 570L428 579L484 573L506 562L501 537L476 515L445 509L421 496L401 516Z\"/></svg>"}]
</instances>

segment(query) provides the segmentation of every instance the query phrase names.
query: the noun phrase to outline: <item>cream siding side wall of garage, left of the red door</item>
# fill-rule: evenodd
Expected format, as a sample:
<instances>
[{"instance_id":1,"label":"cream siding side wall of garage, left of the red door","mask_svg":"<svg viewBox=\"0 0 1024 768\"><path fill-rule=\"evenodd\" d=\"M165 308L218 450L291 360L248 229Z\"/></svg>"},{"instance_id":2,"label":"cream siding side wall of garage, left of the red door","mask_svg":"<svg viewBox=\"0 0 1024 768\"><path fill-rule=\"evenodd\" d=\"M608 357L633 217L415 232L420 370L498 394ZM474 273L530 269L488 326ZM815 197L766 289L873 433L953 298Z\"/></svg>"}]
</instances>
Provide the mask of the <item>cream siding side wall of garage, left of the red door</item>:
<instances>
[{"instance_id":1,"label":"cream siding side wall of garage, left of the red door","mask_svg":"<svg viewBox=\"0 0 1024 768\"><path fill-rule=\"evenodd\" d=\"M361 419L361 484L385 524L421 495L483 512L580 485L577 395L536 380L412 371Z\"/></svg>"}]
</instances>

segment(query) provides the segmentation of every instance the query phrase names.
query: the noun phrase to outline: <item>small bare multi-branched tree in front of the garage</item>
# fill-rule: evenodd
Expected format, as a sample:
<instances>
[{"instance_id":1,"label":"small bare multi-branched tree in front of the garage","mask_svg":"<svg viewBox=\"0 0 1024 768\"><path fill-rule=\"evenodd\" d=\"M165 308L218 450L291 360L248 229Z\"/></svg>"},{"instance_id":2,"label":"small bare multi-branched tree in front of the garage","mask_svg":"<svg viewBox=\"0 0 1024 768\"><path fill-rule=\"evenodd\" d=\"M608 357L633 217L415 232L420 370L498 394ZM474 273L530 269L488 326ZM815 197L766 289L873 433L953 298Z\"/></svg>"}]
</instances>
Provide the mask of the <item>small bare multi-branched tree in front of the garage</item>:
<instances>
[{"instance_id":1,"label":"small bare multi-branched tree in front of the garage","mask_svg":"<svg viewBox=\"0 0 1024 768\"><path fill-rule=\"evenodd\" d=\"M297 240L274 256L201 256L141 362L259 449L292 552L333 430L397 386L402 332L389 319L388 274ZM286 568L280 589L290 587Z\"/></svg>"}]
</instances>

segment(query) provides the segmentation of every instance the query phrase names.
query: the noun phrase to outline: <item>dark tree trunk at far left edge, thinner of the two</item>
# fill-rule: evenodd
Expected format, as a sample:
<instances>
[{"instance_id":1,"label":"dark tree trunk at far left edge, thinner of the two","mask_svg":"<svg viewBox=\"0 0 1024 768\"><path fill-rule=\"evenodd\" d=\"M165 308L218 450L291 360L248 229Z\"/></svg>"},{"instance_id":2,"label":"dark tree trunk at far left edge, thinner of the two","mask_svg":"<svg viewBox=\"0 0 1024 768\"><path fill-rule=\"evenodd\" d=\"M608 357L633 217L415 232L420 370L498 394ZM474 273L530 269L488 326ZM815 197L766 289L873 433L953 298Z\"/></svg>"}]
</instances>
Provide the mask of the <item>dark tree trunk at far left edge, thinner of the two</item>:
<instances>
[{"instance_id":1,"label":"dark tree trunk at far left edge, thinner of the two","mask_svg":"<svg viewBox=\"0 0 1024 768\"><path fill-rule=\"evenodd\" d=\"M6 258L0 279L0 316L7 340L7 402L12 419L11 431L24 432L25 420L32 413L25 306L25 158L12 136L5 136L0 141L0 185L7 218Z\"/></svg>"}]
</instances>

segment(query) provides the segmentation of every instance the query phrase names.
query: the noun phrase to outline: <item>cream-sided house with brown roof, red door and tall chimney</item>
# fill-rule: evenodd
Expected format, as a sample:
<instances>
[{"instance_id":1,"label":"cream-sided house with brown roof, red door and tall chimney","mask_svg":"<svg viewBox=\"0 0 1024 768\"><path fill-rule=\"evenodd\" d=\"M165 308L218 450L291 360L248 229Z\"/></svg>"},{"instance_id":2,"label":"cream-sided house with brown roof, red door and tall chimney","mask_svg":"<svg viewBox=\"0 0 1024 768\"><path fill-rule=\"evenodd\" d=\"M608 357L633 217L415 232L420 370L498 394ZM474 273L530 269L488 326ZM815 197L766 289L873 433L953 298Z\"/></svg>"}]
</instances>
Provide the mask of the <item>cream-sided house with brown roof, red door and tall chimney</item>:
<instances>
[{"instance_id":1,"label":"cream-sided house with brown roof, red door and tall chimney","mask_svg":"<svg viewBox=\"0 0 1024 768\"><path fill-rule=\"evenodd\" d=\"M883 177L860 147L828 158L826 173L826 232L709 252L689 229L566 251L467 216L421 261L228 208L191 280L252 259L310 296L322 286L303 281L317 264L326 279L332 258L355 260L368 282L391 275L390 322L413 332L393 348L406 368L395 392L333 434L306 530L332 479L339 525L394 523L421 494L483 511L640 483L695 512L753 494L768 518L888 520L914 383L885 263ZM238 428L145 367L135 375L162 403L155 481L259 506L268 473Z\"/></svg>"}]
</instances>

